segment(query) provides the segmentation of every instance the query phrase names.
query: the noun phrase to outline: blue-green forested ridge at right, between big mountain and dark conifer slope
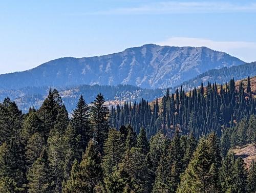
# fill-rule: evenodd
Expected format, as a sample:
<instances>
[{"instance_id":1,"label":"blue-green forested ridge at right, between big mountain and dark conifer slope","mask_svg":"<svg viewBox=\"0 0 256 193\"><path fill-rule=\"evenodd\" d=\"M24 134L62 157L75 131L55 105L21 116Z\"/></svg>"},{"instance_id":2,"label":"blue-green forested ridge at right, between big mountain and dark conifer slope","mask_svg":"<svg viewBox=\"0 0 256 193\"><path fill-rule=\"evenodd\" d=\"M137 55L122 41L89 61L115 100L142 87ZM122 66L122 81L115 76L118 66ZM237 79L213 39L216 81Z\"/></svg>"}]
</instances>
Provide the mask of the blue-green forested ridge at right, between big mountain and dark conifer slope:
<instances>
[{"instance_id":1,"label":"blue-green forested ridge at right, between big mountain and dark conifer slope","mask_svg":"<svg viewBox=\"0 0 256 193\"><path fill-rule=\"evenodd\" d=\"M177 88L182 85L183 89L189 90L200 86L201 83L207 84L207 82L216 82L218 84L223 84L232 78L234 78L234 80L240 80L248 76L256 76L256 62L245 63L244 65L233 66L230 68L224 67L221 69L209 70L195 78L182 82Z\"/></svg>"}]
</instances>

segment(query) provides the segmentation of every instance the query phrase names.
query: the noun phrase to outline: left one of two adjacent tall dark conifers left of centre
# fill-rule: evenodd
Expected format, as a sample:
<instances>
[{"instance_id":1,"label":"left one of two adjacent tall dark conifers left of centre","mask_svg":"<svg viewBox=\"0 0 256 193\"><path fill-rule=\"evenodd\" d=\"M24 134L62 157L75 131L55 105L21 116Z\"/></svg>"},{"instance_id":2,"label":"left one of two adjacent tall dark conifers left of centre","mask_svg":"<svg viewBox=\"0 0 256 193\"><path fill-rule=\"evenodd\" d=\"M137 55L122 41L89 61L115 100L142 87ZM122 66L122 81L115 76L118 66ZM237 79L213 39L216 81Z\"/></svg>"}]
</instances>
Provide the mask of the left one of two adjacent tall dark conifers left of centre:
<instances>
[{"instance_id":1,"label":"left one of two adjacent tall dark conifers left of centre","mask_svg":"<svg viewBox=\"0 0 256 193\"><path fill-rule=\"evenodd\" d=\"M78 100L76 109L72 114L71 124L76 132L80 135L80 148L82 152L86 150L87 143L92 138L93 132L89 122L89 107L82 95Z\"/></svg>"}]
</instances>

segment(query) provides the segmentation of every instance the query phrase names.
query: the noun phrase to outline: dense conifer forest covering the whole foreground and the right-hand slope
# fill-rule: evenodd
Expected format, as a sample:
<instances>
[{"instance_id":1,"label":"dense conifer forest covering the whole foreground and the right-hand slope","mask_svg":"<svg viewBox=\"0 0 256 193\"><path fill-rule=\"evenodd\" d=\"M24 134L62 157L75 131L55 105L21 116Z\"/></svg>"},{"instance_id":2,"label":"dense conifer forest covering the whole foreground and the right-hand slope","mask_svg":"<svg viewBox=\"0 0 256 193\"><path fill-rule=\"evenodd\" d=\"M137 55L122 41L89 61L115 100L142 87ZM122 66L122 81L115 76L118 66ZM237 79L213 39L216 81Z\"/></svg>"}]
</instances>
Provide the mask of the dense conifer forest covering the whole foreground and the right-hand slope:
<instances>
[{"instance_id":1,"label":"dense conifer forest covering the whole foreground and the right-hand slope","mask_svg":"<svg viewBox=\"0 0 256 193\"><path fill-rule=\"evenodd\" d=\"M71 118L57 90L27 114L6 98L0 192L253 193L256 162L232 150L255 145L255 106L249 77L111 110L80 96Z\"/></svg>"}]
</instances>

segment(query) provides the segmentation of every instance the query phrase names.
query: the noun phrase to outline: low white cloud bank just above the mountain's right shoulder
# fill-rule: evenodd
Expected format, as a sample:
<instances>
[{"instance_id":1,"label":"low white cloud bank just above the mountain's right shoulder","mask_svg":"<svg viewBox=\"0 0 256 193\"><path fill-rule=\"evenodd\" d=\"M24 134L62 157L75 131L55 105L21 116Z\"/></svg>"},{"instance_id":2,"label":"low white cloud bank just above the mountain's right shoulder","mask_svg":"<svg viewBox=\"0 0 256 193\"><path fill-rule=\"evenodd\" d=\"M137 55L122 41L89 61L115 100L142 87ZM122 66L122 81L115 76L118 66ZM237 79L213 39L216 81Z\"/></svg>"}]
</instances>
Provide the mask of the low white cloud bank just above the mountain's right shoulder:
<instances>
[{"instance_id":1,"label":"low white cloud bank just above the mountain's right shoulder","mask_svg":"<svg viewBox=\"0 0 256 193\"><path fill-rule=\"evenodd\" d=\"M232 56L236 56L246 62L256 61L256 42L247 41L214 41L203 38L191 37L171 37L161 42L156 42L161 46L192 46L192 47L208 47L213 50L226 52Z\"/></svg>"}]
</instances>

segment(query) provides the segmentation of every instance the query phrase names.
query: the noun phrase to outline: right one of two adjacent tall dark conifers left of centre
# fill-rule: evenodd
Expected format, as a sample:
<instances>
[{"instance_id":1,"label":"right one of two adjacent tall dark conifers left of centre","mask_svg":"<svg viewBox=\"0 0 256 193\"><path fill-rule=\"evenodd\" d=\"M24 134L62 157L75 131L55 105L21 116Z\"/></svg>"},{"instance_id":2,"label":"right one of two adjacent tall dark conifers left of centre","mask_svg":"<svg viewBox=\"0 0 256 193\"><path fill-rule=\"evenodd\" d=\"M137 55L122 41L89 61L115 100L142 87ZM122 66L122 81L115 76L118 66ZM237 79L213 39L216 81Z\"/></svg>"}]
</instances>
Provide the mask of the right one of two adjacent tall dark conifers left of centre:
<instances>
[{"instance_id":1,"label":"right one of two adjacent tall dark conifers left of centre","mask_svg":"<svg viewBox=\"0 0 256 193\"><path fill-rule=\"evenodd\" d=\"M91 106L90 120L94 131L94 139L98 142L99 152L103 153L104 141L108 138L109 133L109 110L104 105L104 97L100 93Z\"/></svg>"}]
</instances>

